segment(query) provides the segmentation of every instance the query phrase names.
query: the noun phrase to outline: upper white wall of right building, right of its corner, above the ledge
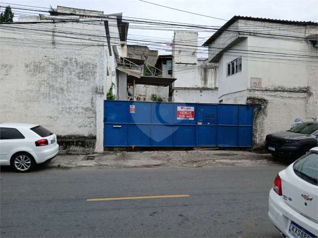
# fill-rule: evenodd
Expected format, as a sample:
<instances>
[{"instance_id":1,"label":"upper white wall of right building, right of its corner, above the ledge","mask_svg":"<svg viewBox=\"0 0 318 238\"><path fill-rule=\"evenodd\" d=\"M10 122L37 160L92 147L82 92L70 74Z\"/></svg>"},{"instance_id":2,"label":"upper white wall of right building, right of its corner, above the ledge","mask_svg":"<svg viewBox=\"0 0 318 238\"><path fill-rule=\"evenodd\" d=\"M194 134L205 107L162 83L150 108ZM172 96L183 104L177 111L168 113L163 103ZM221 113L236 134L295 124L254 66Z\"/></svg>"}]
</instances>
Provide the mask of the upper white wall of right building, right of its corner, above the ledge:
<instances>
[{"instance_id":1,"label":"upper white wall of right building, right of its corner, above the ledge","mask_svg":"<svg viewBox=\"0 0 318 238\"><path fill-rule=\"evenodd\" d=\"M260 48L261 46L261 48ZM283 54L318 56L318 48L304 40L276 39L260 36L248 36L248 47L255 51L282 52ZM279 49L288 49L279 50ZM266 54L266 53L259 53ZM262 56L259 56L262 57ZM271 59L279 58L279 60ZM310 62L312 61L312 62ZM249 55L248 78L261 79L261 87L298 88L307 87L310 68L317 68L317 61L295 56L268 56L263 59ZM248 87L252 87L249 83Z\"/></svg>"}]
</instances>

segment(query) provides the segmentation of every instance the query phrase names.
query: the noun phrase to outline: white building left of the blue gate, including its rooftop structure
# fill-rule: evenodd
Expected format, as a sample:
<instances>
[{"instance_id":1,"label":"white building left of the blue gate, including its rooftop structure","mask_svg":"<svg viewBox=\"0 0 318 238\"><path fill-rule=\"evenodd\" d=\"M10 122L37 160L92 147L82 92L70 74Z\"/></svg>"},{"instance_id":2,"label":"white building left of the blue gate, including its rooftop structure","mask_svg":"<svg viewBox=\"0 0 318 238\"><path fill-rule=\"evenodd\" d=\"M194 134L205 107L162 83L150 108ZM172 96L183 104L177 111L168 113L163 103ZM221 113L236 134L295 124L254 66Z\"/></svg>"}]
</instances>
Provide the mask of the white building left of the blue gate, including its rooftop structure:
<instances>
[{"instance_id":1,"label":"white building left of the blue gate, including its rooftop structure","mask_svg":"<svg viewBox=\"0 0 318 238\"><path fill-rule=\"evenodd\" d=\"M41 124L69 152L101 152L103 100L112 83L117 94L115 57L128 23L62 6L51 14L19 19L42 23L1 24L0 121Z\"/></svg>"}]
</instances>

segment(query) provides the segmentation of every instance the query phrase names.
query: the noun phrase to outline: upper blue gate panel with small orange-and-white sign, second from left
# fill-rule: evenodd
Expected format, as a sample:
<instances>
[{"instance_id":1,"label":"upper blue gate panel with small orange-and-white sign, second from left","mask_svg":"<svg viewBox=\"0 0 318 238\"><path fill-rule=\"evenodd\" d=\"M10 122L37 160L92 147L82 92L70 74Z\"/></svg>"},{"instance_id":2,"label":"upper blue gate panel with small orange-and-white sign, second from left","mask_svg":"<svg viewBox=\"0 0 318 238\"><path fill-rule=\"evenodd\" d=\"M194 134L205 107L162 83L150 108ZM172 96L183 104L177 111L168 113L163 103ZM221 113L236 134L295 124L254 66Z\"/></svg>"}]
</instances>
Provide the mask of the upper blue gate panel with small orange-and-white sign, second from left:
<instances>
[{"instance_id":1,"label":"upper blue gate panel with small orange-and-white sign, second from left","mask_svg":"<svg viewBox=\"0 0 318 238\"><path fill-rule=\"evenodd\" d=\"M135 107L135 113L132 113L131 106ZM151 124L151 107L150 102L131 102L129 104L129 122L130 123L148 123ZM125 113L123 111L122 113ZM127 110L126 110L127 113Z\"/></svg>"}]
</instances>

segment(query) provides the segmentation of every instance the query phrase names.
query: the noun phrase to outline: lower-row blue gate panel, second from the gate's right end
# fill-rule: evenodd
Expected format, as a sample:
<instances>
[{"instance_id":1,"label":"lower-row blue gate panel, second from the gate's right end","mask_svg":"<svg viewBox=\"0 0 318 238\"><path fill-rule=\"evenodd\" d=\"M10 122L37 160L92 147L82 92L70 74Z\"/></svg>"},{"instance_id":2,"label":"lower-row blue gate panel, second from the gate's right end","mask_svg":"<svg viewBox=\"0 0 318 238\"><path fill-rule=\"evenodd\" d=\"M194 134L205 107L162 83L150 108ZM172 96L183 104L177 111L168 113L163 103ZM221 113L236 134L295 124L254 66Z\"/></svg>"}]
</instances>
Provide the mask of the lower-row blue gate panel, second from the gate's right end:
<instances>
[{"instance_id":1,"label":"lower-row blue gate panel, second from the gate's right end","mask_svg":"<svg viewBox=\"0 0 318 238\"><path fill-rule=\"evenodd\" d=\"M221 147L236 147L238 143L238 126L219 126L218 144Z\"/></svg>"}]
</instances>

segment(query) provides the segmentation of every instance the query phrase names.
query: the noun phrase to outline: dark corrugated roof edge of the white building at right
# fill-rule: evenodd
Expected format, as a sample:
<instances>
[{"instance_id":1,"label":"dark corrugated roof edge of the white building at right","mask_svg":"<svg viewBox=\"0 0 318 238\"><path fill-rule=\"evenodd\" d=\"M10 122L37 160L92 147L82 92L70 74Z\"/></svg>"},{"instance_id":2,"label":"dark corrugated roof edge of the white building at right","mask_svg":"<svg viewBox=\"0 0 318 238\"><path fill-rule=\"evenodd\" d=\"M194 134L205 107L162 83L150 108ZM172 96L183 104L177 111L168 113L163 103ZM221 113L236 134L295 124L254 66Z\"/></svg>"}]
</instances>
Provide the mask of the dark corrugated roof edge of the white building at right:
<instances>
[{"instance_id":1,"label":"dark corrugated roof edge of the white building at right","mask_svg":"<svg viewBox=\"0 0 318 238\"><path fill-rule=\"evenodd\" d=\"M314 21L288 21L280 19L270 19L270 18L261 18L261 17L251 17L251 16L234 16L228 20L217 32L215 32L202 46L210 45L219 35L221 35L229 26L231 26L237 20L251 20L251 21L263 21L279 24L291 24L291 25L317 25L317 22Z\"/></svg>"}]
</instances>

